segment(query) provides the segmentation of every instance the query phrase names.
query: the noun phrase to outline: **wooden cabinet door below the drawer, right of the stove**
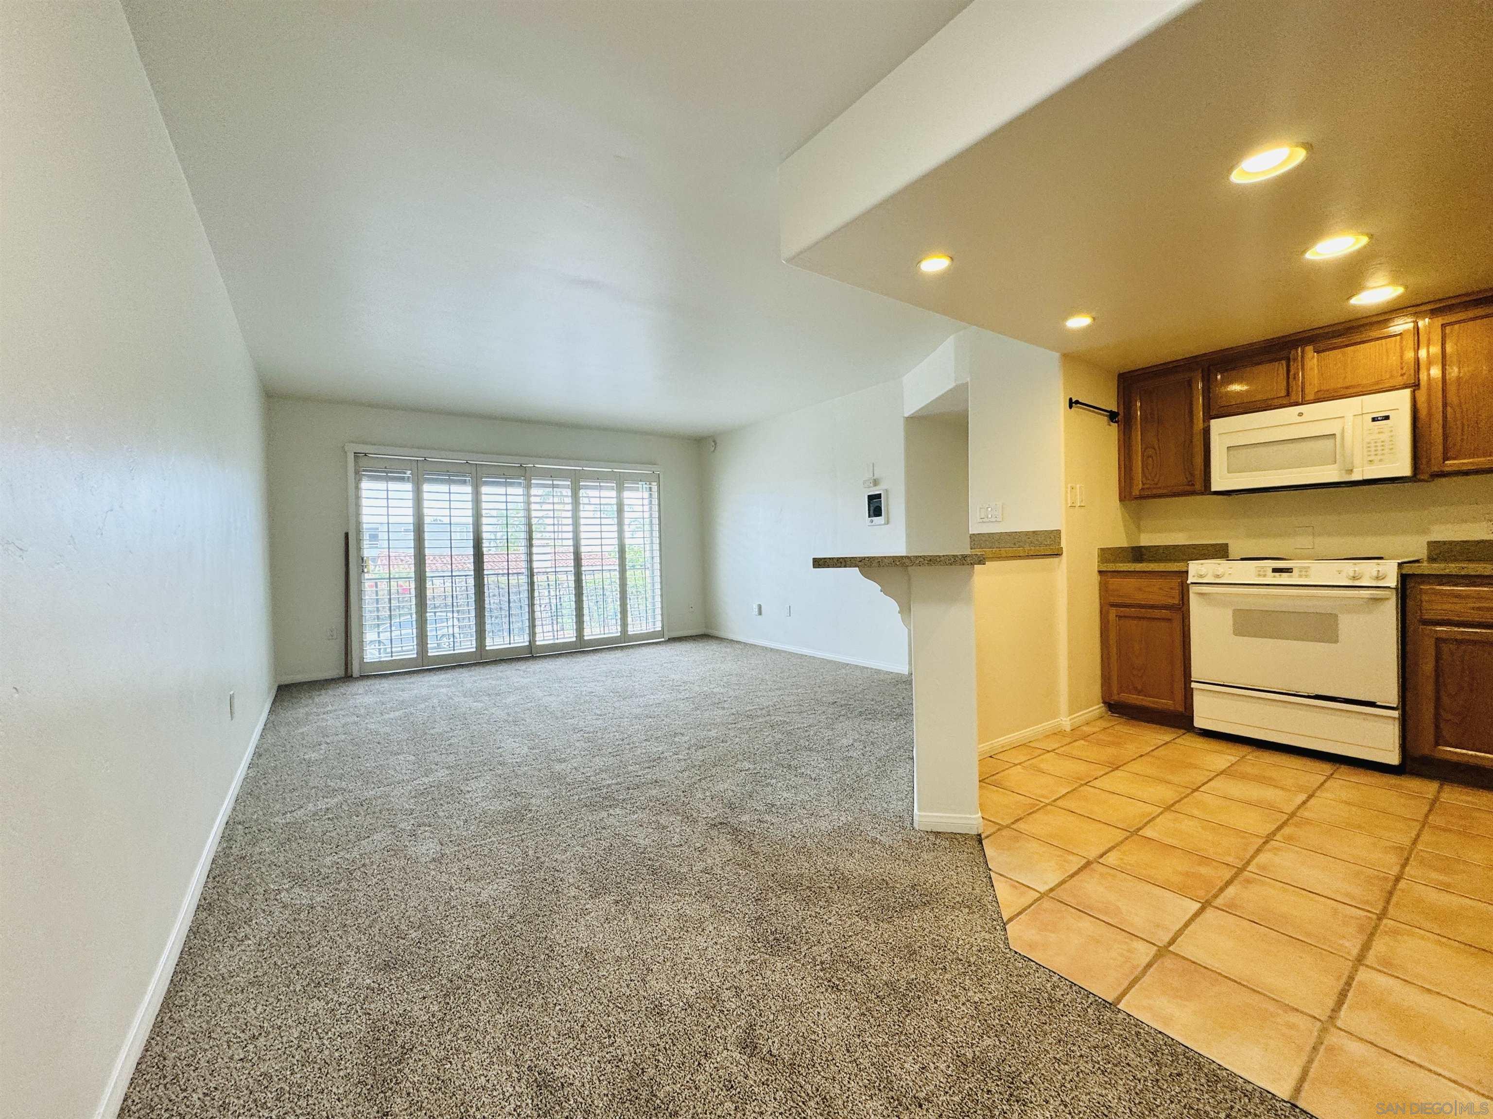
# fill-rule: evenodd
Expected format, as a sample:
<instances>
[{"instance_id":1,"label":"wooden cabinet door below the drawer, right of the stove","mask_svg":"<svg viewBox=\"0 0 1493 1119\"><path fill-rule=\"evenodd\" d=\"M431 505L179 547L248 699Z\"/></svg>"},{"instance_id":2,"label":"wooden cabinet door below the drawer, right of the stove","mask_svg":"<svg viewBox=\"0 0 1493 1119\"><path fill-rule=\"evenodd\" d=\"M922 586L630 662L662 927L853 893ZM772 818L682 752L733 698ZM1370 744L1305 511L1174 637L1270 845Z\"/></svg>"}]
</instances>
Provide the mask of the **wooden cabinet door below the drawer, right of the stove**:
<instances>
[{"instance_id":1,"label":"wooden cabinet door below the drawer, right of the stove","mask_svg":"<svg viewBox=\"0 0 1493 1119\"><path fill-rule=\"evenodd\" d=\"M1415 625L1408 652L1409 753L1493 767L1493 630Z\"/></svg>"}]
</instances>

